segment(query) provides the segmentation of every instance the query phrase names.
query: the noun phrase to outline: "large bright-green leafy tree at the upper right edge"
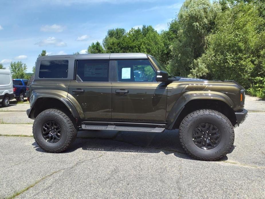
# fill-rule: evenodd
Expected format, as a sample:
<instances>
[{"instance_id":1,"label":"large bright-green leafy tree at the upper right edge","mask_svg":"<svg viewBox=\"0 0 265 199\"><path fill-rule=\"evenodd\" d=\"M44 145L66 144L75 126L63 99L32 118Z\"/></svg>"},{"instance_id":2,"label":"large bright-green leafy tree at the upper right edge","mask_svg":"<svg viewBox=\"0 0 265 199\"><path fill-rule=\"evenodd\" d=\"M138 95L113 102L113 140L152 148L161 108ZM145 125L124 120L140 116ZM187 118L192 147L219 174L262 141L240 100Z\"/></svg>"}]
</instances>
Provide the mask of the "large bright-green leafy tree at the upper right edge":
<instances>
[{"instance_id":1,"label":"large bright-green leafy tree at the upper right edge","mask_svg":"<svg viewBox=\"0 0 265 199\"><path fill-rule=\"evenodd\" d=\"M265 77L265 20L253 3L239 2L221 13L209 48L198 62L213 79L233 79L248 88Z\"/></svg>"}]
</instances>

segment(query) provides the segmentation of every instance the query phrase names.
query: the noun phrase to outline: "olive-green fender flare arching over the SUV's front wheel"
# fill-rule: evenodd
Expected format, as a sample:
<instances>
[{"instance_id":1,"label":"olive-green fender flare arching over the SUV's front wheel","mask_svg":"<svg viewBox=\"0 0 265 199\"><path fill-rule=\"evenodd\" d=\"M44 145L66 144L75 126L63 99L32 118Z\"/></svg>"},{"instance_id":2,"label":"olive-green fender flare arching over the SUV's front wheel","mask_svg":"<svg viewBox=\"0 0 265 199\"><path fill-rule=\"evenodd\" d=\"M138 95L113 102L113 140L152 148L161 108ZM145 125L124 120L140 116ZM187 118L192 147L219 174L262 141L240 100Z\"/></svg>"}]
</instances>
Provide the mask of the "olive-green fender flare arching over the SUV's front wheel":
<instances>
[{"instance_id":1,"label":"olive-green fender flare arching over the SUV's front wheel","mask_svg":"<svg viewBox=\"0 0 265 199\"><path fill-rule=\"evenodd\" d=\"M227 95L221 92L187 91L178 98L178 100L176 101L172 109L170 110L166 118L166 122L168 123L168 129L172 129L173 125L175 124L184 106L193 99L214 99L214 100L225 102L231 108L233 108L234 106L234 103L230 99L230 97L228 97Z\"/></svg>"}]
</instances>

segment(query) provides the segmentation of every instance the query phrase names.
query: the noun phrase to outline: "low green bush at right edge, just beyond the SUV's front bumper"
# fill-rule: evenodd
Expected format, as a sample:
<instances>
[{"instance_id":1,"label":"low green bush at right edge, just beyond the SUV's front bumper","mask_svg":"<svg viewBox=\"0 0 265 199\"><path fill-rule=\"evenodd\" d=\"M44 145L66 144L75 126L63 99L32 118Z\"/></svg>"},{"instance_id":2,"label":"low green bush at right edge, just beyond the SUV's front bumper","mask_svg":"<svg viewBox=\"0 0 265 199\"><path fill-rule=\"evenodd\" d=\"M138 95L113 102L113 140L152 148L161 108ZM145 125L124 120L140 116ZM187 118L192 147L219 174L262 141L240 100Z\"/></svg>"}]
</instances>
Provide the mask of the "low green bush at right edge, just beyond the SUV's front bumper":
<instances>
[{"instance_id":1,"label":"low green bush at right edge, just beyond the SUV's front bumper","mask_svg":"<svg viewBox=\"0 0 265 199\"><path fill-rule=\"evenodd\" d=\"M254 83L247 90L250 95L265 99L265 77L252 78Z\"/></svg>"}]
</instances>

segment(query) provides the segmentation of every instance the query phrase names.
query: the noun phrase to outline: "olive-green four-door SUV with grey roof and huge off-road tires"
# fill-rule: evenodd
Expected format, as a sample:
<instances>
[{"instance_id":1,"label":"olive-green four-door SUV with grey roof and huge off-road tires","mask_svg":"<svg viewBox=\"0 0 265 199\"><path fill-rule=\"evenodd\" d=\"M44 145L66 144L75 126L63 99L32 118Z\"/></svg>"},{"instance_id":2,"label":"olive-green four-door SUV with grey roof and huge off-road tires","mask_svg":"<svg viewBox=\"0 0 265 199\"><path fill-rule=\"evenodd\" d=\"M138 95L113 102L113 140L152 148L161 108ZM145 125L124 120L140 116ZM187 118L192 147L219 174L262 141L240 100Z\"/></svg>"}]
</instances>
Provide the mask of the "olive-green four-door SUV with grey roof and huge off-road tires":
<instances>
[{"instance_id":1,"label":"olive-green four-door SUV with grey roof and huge off-road tires","mask_svg":"<svg viewBox=\"0 0 265 199\"><path fill-rule=\"evenodd\" d=\"M235 81L173 77L143 53L41 56L27 96L34 138L50 153L65 151L78 130L179 129L189 155L217 160L247 116Z\"/></svg>"}]
</instances>

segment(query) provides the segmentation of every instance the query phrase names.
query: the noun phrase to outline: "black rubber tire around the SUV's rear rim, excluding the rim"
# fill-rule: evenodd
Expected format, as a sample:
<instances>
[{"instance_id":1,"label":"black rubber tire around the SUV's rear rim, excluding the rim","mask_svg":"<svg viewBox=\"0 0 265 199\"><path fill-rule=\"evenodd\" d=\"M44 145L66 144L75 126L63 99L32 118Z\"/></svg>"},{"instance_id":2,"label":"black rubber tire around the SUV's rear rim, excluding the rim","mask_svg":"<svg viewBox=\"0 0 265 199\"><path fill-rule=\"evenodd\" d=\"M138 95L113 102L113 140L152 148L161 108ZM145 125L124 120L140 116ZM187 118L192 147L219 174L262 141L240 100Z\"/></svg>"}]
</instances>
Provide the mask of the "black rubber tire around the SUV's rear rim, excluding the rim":
<instances>
[{"instance_id":1,"label":"black rubber tire around the SUV's rear rim, excluding the rim","mask_svg":"<svg viewBox=\"0 0 265 199\"><path fill-rule=\"evenodd\" d=\"M49 143L42 136L42 125L48 120L54 120L61 126L62 136L56 143ZM48 153L65 151L77 136L77 130L72 120L64 112L57 109L47 109L41 112L35 118L32 130L36 143Z\"/></svg>"}]
</instances>

